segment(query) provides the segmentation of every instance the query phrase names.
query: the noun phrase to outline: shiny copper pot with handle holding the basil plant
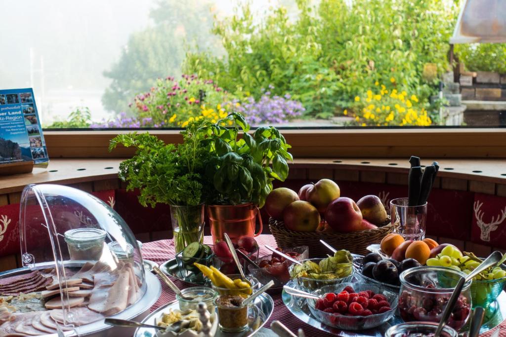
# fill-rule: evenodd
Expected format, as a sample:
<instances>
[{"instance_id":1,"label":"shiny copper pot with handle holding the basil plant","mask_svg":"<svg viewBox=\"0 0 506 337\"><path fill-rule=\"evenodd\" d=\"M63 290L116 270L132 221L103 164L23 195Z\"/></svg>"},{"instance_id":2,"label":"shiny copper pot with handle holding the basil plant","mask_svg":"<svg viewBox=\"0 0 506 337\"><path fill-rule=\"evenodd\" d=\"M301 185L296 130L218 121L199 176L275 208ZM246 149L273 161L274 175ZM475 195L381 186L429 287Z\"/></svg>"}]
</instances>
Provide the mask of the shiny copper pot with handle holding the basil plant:
<instances>
[{"instance_id":1,"label":"shiny copper pot with handle holding the basil plant","mask_svg":"<svg viewBox=\"0 0 506 337\"><path fill-rule=\"evenodd\" d=\"M224 233L227 233L234 243L237 243L237 240L243 236L253 237L262 233L263 225L260 210L253 203L208 205L207 214L209 215L209 225L214 243L223 240ZM260 229L255 233L257 216Z\"/></svg>"}]
</instances>

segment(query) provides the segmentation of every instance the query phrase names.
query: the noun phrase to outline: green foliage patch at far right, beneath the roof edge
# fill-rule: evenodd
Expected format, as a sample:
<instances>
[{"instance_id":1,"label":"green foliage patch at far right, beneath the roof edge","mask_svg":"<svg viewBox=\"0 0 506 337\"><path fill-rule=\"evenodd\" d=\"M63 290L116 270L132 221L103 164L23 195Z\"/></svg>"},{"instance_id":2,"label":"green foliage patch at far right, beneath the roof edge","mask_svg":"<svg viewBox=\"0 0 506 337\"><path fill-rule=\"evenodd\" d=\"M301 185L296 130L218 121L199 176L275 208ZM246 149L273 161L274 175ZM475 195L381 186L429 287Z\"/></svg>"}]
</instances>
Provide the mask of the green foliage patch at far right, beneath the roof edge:
<instances>
[{"instance_id":1,"label":"green foliage patch at far right, beneath the roof edge","mask_svg":"<svg viewBox=\"0 0 506 337\"><path fill-rule=\"evenodd\" d=\"M506 73L506 43L456 44L455 54L470 71Z\"/></svg>"}]
</instances>

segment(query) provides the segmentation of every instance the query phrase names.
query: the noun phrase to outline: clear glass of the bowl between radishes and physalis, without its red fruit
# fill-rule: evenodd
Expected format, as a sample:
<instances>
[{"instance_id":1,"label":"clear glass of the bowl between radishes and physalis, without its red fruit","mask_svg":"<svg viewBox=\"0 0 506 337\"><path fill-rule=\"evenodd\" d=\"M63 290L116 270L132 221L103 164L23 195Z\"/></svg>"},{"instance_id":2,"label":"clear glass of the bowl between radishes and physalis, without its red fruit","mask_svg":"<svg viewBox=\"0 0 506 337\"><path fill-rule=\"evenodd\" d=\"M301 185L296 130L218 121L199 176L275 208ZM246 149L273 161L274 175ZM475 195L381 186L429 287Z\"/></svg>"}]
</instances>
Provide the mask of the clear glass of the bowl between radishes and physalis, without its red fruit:
<instances>
[{"instance_id":1,"label":"clear glass of the bowl between radishes and physalis, without its red fruit","mask_svg":"<svg viewBox=\"0 0 506 337\"><path fill-rule=\"evenodd\" d=\"M301 246L295 248L286 248L281 250L282 253L294 252L300 254L295 259L297 261L306 260L309 257L309 249L308 246ZM288 272L288 267L293 264L293 262L285 260L284 258L278 256L281 259L280 264L273 265L270 267L264 268L256 268L255 266L248 264L248 271L251 275L255 276L260 283L266 284L269 281L274 281L273 287L282 287L286 282L290 280L290 273ZM255 260L254 262L257 265L260 265L262 261L271 261L272 254L262 256L261 258Z\"/></svg>"}]
</instances>

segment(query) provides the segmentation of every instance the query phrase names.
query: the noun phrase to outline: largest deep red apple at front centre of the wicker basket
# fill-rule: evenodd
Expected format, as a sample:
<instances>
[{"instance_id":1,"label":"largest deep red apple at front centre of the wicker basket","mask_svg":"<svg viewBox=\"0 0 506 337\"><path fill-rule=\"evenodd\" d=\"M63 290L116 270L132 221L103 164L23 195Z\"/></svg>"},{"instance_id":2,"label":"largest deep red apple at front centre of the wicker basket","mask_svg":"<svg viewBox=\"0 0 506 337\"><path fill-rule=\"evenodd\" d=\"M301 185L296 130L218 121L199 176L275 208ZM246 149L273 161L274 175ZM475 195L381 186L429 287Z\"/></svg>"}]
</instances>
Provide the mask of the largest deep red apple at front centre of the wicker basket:
<instances>
[{"instance_id":1,"label":"largest deep red apple at front centre of the wicker basket","mask_svg":"<svg viewBox=\"0 0 506 337\"><path fill-rule=\"evenodd\" d=\"M332 201L325 211L325 220L336 232L362 230L362 213L350 198L341 197Z\"/></svg>"}]
</instances>

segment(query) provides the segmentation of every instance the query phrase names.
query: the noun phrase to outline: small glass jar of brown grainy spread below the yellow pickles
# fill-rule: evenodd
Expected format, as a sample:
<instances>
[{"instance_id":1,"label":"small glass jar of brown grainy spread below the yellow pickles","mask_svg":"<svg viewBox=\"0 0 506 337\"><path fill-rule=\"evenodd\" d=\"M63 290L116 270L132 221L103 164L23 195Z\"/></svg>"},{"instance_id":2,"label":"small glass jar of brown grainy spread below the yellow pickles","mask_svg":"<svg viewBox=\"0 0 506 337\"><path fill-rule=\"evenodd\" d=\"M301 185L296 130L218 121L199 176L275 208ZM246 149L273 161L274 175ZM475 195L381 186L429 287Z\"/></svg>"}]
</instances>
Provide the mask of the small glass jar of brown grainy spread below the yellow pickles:
<instances>
[{"instance_id":1,"label":"small glass jar of brown grainy spread below the yellow pickles","mask_svg":"<svg viewBox=\"0 0 506 337\"><path fill-rule=\"evenodd\" d=\"M222 331L240 332L248 329L248 306L241 305L242 301L244 298L238 295L222 295L215 299Z\"/></svg>"}]
</instances>

